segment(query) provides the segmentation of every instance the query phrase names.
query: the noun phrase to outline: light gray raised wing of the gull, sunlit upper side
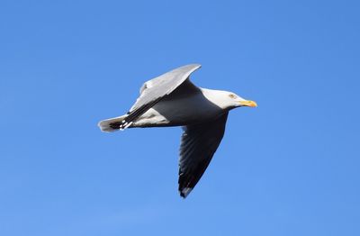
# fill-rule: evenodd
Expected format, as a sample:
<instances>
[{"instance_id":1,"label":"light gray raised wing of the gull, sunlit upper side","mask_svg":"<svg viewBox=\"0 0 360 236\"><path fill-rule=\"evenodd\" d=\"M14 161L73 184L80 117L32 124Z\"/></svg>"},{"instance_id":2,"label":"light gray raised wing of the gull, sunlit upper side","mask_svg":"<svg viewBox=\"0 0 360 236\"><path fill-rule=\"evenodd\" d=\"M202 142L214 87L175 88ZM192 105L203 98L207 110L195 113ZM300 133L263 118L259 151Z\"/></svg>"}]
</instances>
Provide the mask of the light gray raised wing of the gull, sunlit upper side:
<instances>
[{"instance_id":1,"label":"light gray raised wing of the gull, sunlit upper side","mask_svg":"<svg viewBox=\"0 0 360 236\"><path fill-rule=\"evenodd\" d=\"M181 68L175 68L164 75L148 80L140 88L140 96L132 105L128 116L122 121L120 129L124 129L135 121L141 114L157 104L166 95L170 95L178 86L195 71L200 68L199 64L191 64ZM187 80L189 85L192 85Z\"/></svg>"}]
</instances>

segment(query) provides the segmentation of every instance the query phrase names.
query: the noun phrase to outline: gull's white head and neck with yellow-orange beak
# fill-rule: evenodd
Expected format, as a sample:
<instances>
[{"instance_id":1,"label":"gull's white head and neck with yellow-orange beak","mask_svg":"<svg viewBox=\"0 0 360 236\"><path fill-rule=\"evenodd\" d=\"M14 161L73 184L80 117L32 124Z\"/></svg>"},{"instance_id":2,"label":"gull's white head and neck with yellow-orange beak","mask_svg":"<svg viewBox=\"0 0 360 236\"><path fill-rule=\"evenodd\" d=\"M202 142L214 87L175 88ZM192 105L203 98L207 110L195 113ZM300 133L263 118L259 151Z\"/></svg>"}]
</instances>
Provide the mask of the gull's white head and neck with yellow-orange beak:
<instances>
[{"instance_id":1,"label":"gull's white head and neck with yellow-orange beak","mask_svg":"<svg viewBox=\"0 0 360 236\"><path fill-rule=\"evenodd\" d=\"M257 107L257 103L228 91L208 90L204 95L222 109L231 110L240 106Z\"/></svg>"}]
</instances>

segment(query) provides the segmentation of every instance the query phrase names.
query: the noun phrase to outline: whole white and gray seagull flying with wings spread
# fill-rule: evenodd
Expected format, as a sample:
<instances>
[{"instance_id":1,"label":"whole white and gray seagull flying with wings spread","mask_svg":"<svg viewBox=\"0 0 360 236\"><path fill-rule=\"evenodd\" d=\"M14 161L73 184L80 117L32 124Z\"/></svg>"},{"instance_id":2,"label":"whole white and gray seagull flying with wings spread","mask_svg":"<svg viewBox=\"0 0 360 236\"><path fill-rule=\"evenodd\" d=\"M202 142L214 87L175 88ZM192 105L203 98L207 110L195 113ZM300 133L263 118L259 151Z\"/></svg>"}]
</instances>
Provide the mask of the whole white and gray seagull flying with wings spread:
<instances>
[{"instance_id":1,"label":"whole white and gray seagull flying with wings spread","mask_svg":"<svg viewBox=\"0 0 360 236\"><path fill-rule=\"evenodd\" d=\"M148 80L128 113L98 123L102 132L182 126L178 190L184 198L218 149L229 111L257 106L231 92L194 86L189 77L198 68L201 65L186 65Z\"/></svg>"}]
</instances>

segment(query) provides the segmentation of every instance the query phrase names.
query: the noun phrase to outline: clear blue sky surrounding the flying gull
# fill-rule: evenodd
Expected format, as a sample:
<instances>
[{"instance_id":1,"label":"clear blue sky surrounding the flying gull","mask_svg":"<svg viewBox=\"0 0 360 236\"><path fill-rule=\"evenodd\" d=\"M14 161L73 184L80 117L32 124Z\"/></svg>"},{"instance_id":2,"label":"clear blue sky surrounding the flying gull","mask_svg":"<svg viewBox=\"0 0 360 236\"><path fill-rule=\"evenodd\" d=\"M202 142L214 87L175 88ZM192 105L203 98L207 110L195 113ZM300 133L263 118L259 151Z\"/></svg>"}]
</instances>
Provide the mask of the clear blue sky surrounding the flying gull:
<instances>
[{"instance_id":1,"label":"clear blue sky surrounding the flying gull","mask_svg":"<svg viewBox=\"0 0 360 236\"><path fill-rule=\"evenodd\" d=\"M358 1L0 2L0 234L360 235ZM102 133L201 63L229 115L177 193L180 128Z\"/></svg>"}]
</instances>

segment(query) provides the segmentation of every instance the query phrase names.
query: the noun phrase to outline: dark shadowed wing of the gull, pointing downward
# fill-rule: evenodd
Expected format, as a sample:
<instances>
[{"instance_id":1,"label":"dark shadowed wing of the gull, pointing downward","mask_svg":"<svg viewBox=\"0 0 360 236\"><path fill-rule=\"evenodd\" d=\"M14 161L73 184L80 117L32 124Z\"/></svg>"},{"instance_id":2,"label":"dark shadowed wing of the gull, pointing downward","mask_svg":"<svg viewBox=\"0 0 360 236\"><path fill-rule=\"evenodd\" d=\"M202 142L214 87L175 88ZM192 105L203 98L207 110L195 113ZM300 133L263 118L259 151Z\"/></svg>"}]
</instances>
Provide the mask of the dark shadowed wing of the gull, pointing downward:
<instances>
[{"instance_id":1,"label":"dark shadowed wing of the gull, pointing downward","mask_svg":"<svg viewBox=\"0 0 360 236\"><path fill-rule=\"evenodd\" d=\"M228 113L216 120L184 126L179 163L179 192L186 197L202 177L225 132Z\"/></svg>"}]
</instances>

